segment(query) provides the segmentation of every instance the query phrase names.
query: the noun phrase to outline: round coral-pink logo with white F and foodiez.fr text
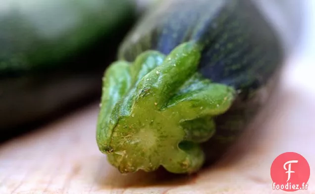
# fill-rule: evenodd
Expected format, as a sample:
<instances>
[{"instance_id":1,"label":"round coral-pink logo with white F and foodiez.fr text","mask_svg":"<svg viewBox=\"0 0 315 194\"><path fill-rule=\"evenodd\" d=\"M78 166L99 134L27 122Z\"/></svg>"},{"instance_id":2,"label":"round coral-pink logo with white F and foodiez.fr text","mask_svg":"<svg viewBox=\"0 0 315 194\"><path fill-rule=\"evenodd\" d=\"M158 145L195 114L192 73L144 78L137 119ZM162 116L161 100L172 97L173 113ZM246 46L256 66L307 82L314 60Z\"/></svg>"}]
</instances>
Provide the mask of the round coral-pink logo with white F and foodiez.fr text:
<instances>
[{"instance_id":1,"label":"round coral-pink logo with white F and foodiez.fr text","mask_svg":"<svg viewBox=\"0 0 315 194\"><path fill-rule=\"evenodd\" d=\"M270 168L272 189L287 192L307 190L310 171L309 162L302 155L295 152L278 155Z\"/></svg>"}]
</instances>

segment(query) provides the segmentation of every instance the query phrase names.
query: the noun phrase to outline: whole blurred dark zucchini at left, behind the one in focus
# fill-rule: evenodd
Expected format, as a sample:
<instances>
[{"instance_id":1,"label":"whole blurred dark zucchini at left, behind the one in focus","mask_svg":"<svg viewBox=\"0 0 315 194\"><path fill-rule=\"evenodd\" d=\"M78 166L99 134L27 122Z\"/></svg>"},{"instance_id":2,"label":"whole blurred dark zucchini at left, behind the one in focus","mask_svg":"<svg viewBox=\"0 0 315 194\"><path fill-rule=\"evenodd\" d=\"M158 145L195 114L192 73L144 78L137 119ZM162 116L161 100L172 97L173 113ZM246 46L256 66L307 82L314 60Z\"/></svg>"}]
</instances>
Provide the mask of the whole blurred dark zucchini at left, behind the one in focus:
<instances>
[{"instance_id":1,"label":"whole blurred dark zucchini at left, behind the one in focus","mask_svg":"<svg viewBox=\"0 0 315 194\"><path fill-rule=\"evenodd\" d=\"M104 64L136 19L130 0L17 0L1 7L0 131L97 97Z\"/></svg>"}]
</instances>

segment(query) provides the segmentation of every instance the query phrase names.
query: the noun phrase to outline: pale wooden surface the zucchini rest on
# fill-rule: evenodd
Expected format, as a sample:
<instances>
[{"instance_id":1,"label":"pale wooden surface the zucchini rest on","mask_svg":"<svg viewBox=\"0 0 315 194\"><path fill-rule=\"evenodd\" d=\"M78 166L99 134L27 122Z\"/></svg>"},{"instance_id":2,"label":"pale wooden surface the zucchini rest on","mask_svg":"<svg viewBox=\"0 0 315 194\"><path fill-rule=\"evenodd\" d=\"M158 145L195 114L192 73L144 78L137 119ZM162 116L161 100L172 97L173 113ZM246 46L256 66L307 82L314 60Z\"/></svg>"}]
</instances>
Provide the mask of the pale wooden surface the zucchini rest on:
<instances>
[{"instance_id":1,"label":"pale wooden surface the zucchini rest on","mask_svg":"<svg viewBox=\"0 0 315 194\"><path fill-rule=\"evenodd\" d=\"M296 194L315 194L315 41L303 41L304 54L288 60L273 100L233 149L200 173L121 175L98 151L96 102L0 145L0 194L280 194L286 192L272 190L270 165L284 152L300 153L311 166L308 190Z\"/></svg>"}]
</instances>

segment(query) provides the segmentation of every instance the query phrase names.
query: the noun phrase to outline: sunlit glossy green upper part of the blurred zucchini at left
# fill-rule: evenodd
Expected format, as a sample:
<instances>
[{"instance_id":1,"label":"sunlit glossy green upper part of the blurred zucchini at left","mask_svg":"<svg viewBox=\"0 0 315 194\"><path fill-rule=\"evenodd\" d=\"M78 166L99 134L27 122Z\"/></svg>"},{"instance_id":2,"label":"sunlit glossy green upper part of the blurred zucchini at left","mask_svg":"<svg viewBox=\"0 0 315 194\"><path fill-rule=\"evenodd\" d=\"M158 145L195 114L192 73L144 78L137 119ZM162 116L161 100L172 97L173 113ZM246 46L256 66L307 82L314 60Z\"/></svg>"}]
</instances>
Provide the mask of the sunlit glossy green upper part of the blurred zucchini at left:
<instances>
[{"instance_id":1,"label":"sunlit glossy green upper part of the blurred zucchini at left","mask_svg":"<svg viewBox=\"0 0 315 194\"><path fill-rule=\"evenodd\" d=\"M47 68L109 36L133 14L130 0L3 1L0 73Z\"/></svg>"}]
</instances>

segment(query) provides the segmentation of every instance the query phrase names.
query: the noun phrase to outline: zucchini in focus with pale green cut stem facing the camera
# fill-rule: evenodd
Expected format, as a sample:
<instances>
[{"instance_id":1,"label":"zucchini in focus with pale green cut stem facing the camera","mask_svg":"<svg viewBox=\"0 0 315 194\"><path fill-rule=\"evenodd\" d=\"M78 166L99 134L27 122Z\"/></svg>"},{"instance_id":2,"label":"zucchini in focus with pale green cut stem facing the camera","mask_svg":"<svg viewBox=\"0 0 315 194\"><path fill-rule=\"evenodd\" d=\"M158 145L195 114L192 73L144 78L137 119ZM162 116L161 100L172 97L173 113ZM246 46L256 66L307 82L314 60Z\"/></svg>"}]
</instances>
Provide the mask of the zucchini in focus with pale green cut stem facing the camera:
<instances>
[{"instance_id":1,"label":"zucchini in focus with pale green cut stem facing the camera","mask_svg":"<svg viewBox=\"0 0 315 194\"><path fill-rule=\"evenodd\" d=\"M252 0L163 1L105 71L100 151L121 173L198 171L256 115L283 56Z\"/></svg>"}]
</instances>

